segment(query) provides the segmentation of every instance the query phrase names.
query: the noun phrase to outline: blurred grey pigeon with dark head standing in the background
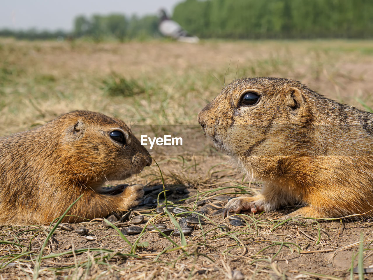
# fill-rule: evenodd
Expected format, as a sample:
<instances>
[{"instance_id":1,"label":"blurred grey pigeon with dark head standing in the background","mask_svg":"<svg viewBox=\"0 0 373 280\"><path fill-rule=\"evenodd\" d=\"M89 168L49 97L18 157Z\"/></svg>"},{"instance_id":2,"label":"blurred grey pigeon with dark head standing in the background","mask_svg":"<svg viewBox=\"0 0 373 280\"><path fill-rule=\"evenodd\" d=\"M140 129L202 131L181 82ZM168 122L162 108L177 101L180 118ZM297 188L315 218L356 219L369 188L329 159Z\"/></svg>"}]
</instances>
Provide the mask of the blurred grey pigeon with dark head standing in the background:
<instances>
[{"instance_id":1,"label":"blurred grey pigeon with dark head standing in the background","mask_svg":"<svg viewBox=\"0 0 373 280\"><path fill-rule=\"evenodd\" d=\"M197 36L191 36L176 21L167 17L165 10L160 10L159 32L166 37L174 38L181 42L198 43Z\"/></svg>"}]
</instances>

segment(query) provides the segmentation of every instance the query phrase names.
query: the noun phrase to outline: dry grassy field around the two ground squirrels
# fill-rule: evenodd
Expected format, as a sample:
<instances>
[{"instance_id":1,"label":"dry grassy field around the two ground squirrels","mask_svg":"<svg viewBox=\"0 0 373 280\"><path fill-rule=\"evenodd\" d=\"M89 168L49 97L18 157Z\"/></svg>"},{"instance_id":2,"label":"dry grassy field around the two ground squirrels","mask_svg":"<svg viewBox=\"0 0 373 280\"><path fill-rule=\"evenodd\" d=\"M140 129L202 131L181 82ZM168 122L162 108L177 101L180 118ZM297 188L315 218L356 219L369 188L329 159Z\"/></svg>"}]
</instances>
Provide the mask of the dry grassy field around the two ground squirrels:
<instances>
[{"instance_id":1,"label":"dry grassy field around the two ground squirrels","mask_svg":"<svg viewBox=\"0 0 373 280\"><path fill-rule=\"evenodd\" d=\"M28 130L76 109L116 116L129 125L198 125L198 111L222 85L239 77L300 80L329 98L370 110L372 43L94 44L1 39L0 136ZM200 139L206 141L205 152L172 156L162 150L153 152L160 169L153 163L141 174L108 184L142 183L151 189L162 184L163 176L165 186L173 191L167 195L168 203L186 207L186 211L204 207L187 203L188 197L210 199L207 205L219 209L227 202L224 196L260 190L260 183L243 178L227 156L211 152L210 142ZM184 238L144 231L123 239L114 228L104 227L102 219L72 224L74 228L86 226L94 236L92 241L60 227L49 237L53 225L0 227L0 279L373 278L357 273L358 264L373 265L372 221L315 220L305 225L273 220L295 207L255 215L243 212L242 227L222 221L221 215L212 216L216 209L210 209L204 218L208 223L195 224L191 236ZM137 212L145 215L148 225L162 222L174 227L171 213Z\"/></svg>"}]
</instances>

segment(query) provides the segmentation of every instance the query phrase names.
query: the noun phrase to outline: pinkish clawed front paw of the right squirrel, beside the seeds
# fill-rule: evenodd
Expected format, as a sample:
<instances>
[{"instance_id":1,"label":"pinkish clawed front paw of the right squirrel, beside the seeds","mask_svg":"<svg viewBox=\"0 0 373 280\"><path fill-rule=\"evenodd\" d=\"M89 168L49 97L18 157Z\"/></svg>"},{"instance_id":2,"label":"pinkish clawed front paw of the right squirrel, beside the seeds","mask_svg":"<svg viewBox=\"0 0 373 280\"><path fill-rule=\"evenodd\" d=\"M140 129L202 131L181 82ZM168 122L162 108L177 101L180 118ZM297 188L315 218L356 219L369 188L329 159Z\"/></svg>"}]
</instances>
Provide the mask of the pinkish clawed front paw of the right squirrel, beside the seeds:
<instances>
[{"instance_id":1,"label":"pinkish clawed front paw of the right squirrel, beside the seeds","mask_svg":"<svg viewBox=\"0 0 373 280\"><path fill-rule=\"evenodd\" d=\"M249 209L253 213L264 211L264 206L263 203L261 203L260 198L260 196L243 196L232 198L225 205L223 218L228 217L230 212L239 213Z\"/></svg>"}]
</instances>

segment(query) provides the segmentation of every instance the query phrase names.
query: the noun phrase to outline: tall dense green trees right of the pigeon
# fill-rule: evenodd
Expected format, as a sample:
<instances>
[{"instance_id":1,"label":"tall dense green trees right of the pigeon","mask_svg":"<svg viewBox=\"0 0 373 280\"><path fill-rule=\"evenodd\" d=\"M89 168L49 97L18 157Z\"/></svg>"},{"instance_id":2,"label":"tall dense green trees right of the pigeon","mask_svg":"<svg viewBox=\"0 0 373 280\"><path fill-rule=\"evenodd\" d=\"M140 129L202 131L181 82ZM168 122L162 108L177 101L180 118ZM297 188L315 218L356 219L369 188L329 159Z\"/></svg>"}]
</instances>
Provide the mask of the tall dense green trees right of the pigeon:
<instances>
[{"instance_id":1,"label":"tall dense green trees right of the pigeon","mask_svg":"<svg viewBox=\"0 0 373 280\"><path fill-rule=\"evenodd\" d=\"M186 0L173 19L203 38L372 38L371 0Z\"/></svg>"}]
</instances>

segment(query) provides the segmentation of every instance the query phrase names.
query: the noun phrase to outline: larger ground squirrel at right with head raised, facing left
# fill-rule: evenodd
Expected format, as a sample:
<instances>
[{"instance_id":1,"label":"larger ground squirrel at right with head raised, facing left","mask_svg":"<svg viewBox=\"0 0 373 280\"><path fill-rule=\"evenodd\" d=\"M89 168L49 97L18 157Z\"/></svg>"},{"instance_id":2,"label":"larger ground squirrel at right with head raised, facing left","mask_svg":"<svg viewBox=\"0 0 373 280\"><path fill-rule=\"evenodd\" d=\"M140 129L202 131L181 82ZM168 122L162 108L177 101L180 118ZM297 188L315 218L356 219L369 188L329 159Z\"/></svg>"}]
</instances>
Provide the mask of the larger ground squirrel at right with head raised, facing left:
<instances>
[{"instance_id":1,"label":"larger ground squirrel at right with head raised, facing left","mask_svg":"<svg viewBox=\"0 0 373 280\"><path fill-rule=\"evenodd\" d=\"M245 78L227 85L198 122L263 182L260 195L230 200L224 215L300 203L285 218L373 217L372 113L297 81Z\"/></svg>"}]
</instances>

